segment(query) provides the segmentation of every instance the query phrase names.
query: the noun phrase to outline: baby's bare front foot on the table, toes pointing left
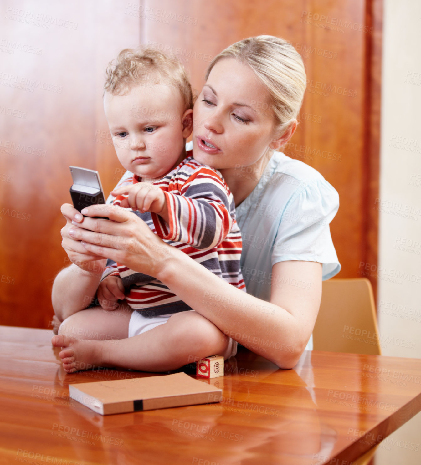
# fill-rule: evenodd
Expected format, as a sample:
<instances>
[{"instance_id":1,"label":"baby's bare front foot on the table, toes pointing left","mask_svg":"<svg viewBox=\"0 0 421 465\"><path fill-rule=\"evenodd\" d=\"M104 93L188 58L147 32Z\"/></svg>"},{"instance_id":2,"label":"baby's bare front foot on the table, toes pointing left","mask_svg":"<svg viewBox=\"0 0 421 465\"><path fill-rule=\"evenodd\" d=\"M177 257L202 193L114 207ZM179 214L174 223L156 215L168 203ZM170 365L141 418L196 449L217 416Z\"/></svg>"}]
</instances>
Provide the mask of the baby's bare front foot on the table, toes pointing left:
<instances>
[{"instance_id":1,"label":"baby's bare front foot on the table, toes pointing left","mask_svg":"<svg viewBox=\"0 0 421 465\"><path fill-rule=\"evenodd\" d=\"M51 343L54 347L61 347L59 357L67 373L108 366L103 363L104 341L76 339L60 334L53 336Z\"/></svg>"}]
</instances>

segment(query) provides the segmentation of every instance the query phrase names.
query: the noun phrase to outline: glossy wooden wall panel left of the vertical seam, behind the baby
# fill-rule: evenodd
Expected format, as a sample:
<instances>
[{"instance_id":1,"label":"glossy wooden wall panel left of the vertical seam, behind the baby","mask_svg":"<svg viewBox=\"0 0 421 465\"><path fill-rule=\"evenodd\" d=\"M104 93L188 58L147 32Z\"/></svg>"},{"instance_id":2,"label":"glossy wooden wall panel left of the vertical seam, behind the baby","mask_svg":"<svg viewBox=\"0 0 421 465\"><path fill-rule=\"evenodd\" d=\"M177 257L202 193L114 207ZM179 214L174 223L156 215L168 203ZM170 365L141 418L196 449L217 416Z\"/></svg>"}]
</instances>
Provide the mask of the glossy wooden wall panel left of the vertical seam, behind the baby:
<instances>
[{"instance_id":1,"label":"glossy wooden wall panel left of the vertical seam, behind the baby","mask_svg":"<svg viewBox=\"0 0 421 465\"><path fill-rule=\"evenodd\" d=\"M108 61L138 44L139 18L118 1L8 5L0 19L0 324L47 327L54 276L69 263L60 236L68 166L98 169L104 189L115 185L114 148L97 134L107 129L101 87Z\"/></svg>"}]
</instances>

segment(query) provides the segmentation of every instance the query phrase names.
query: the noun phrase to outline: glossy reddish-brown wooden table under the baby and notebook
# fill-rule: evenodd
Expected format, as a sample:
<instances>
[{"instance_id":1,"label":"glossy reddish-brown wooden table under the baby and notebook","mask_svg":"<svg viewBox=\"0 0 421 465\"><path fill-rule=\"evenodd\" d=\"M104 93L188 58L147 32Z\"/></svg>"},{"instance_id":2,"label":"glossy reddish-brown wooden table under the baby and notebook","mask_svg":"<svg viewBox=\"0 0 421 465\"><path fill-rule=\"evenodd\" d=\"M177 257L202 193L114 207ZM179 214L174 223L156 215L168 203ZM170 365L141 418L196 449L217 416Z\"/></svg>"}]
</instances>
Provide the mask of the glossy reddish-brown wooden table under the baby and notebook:
<instances>
[{"instance_id":1,"label":"glossy reddish-brown wooden table under the baby and notebook","mask_svg":"<svg viewBox=\"0 0 421 465\"><path fill-rule=\"evenodd\" d=\"M68 384L160 374L65 374L51 336L0 326L1 464L348 465L421 410L420 359L304 352L280 370L240 351L210 381L219 404L102 417Z\"/></svg>"}]
</instances>

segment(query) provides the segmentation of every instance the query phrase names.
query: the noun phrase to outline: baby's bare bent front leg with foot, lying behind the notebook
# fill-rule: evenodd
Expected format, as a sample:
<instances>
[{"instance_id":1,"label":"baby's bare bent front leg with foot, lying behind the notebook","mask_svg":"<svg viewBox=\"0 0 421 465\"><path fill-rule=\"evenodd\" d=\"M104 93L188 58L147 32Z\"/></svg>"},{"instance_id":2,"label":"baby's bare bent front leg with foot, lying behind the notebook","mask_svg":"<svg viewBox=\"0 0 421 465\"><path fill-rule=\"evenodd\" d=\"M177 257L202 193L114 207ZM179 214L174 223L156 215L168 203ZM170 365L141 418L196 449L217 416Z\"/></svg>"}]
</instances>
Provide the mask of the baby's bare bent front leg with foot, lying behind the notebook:
<instances>
[{"instance_id":1,"label":"baby's bare bent front leg with foot, lying behind the notebook","mask_svg":"<svg viewBox=\"0 0 421 465\"><path fill-rule=\"evenodd\" d=\"M127 339L83 340L65 335L52 339L54 346L63 348L60 357L70 373L94 366L147 372L175 370L192 360L222 355L228 342L219 328L197 312L175 313L167 323Z\"/></svg>"}]
</instances>

